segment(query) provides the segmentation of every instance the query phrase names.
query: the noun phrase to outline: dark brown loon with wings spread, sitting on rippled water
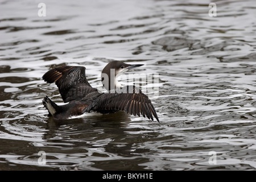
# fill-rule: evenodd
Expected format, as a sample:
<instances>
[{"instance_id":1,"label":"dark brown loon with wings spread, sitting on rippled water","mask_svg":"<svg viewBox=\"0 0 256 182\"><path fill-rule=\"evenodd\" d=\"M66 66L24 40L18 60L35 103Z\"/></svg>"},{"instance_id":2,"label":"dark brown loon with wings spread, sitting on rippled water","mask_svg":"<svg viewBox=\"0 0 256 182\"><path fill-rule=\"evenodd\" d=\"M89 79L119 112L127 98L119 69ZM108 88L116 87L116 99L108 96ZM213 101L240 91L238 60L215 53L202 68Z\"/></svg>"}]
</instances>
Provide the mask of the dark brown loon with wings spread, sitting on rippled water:
<instances>
[{"instance_id":1,"label":"dark brown loon with wings spread, sitting on rippled water","mask_svg":"<svg viewBox=\"0 0 256 182\"><path fill-rule=\"evenodd\" d=\"M68 104L57 105L46 96L43 105L48 110L48 115L57 120L92 111L108 114L123 110L152 121L154 116L159 122L150 99L140 89L135 86L122 86L117 81L120 74L142 65L111 61L101 73L101 82L108 91L104 93L93 88L86 80L85 67L64 65L50 69L43 75L43 80L50 84L55 82L64 103Z\"/></svg>"}]
</instances>

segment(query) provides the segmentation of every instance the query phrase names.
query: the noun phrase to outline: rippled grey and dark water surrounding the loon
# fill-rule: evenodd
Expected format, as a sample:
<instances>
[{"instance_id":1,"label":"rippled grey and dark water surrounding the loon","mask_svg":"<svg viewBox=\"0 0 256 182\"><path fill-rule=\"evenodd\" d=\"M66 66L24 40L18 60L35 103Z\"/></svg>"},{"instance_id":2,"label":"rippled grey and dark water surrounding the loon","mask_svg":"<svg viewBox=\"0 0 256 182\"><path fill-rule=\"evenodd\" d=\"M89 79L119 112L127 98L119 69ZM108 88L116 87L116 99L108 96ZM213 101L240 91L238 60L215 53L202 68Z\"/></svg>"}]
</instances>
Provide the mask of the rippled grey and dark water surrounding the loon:
<instances>
[{"instance_id":1,"label":"rippled grey and dark water surrounding the loon","mask_svg":"<svg viewBox=\"0 0 256 182\"><path fill-rule=\"evenodd\" d=\"M0 1L1 170L256 168L255 1ZM111 60L159 74L160 124L125 113L55 122L41 77L85 65L97 86ZM39 151L46 164L39 164ZM216 152L216 164L209 162Z\"/></svg>"}]
</instances>

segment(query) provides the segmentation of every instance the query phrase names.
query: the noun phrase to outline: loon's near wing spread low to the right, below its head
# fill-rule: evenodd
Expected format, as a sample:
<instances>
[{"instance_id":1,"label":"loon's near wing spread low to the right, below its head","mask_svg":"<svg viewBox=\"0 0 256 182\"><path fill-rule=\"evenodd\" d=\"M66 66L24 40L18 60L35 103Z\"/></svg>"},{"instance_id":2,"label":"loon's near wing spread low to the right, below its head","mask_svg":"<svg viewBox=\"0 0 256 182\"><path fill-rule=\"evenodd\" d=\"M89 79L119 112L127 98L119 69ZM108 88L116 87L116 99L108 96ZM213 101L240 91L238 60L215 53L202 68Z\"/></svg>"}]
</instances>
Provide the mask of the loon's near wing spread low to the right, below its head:
<instances>
[{"instance_id":1,"label":"loon's near wing spread low to the right, below its head","mask_svg":"<svg viewBox=\"0 0 256 182\"><path fill-rule=\"evenodd\" d=\"M154 121L153 115L159 122L158 115L150 99L143 93L104 93L99 96L86 111L106 113L124 110L133 115L143 115Z\"/></svg>"}]
</instances>

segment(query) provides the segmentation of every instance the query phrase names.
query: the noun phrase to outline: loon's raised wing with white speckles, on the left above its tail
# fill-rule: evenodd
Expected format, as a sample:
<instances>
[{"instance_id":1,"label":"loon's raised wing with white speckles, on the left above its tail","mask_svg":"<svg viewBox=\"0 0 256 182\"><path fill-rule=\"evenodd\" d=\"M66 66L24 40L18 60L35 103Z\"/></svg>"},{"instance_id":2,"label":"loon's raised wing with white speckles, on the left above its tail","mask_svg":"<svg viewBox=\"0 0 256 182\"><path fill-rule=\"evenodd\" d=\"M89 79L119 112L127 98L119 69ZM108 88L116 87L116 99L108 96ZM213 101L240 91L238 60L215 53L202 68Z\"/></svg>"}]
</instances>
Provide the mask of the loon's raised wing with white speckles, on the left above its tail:
<instances>
[{"instance_id":1,"label":"loon's raised wing with white speckles, on the left above its tail","mask_svg":"<svg viewBox=\"0 0 256 182\"><path fill-rule=\"evenodd\" d=\"M61 66L53 68L43 75L43 80L59 88L64 102L84 98L97 89L92 88L85 77L85 67Z\"/></svg>"}]
</instances>

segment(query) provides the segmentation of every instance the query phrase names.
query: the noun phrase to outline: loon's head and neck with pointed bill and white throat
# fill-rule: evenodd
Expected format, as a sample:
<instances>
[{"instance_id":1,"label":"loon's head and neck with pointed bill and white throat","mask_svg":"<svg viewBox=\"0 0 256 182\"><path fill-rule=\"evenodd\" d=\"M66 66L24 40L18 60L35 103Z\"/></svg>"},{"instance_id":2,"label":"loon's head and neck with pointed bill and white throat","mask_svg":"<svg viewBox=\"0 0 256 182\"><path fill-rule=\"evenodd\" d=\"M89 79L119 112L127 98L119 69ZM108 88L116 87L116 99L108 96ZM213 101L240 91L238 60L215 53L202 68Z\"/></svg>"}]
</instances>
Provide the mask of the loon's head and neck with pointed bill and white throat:
<instances>
[{"instance_id":1,"label":"loon's head and neck with pointed bill and white throat","mask_svg":"<svg viewBox=\"0 0 256 182\"><path fill-rule=\"evenodd\" d=\"M101 72L101 81L106 90L121 88L117 77L130 69L141 67L144 64L126 64L122 61L111 61Z\"/></svg>"}]
</instances>

